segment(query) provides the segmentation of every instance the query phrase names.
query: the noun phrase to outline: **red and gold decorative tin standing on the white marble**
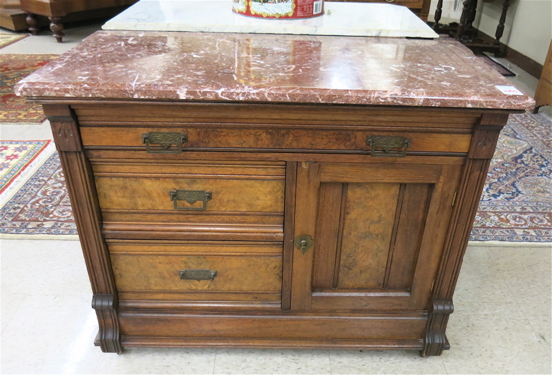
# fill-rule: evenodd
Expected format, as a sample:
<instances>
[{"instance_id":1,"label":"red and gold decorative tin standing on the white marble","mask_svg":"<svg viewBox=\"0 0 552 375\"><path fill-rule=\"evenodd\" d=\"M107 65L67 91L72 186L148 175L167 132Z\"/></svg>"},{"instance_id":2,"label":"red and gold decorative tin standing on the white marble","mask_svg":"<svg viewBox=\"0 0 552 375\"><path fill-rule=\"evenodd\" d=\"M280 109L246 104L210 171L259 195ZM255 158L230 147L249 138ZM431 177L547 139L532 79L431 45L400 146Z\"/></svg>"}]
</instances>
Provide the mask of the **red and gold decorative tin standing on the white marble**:
<instances>
[{"instance_id":1,"label":"red and gold decorative tin standing on the white marble","mask_svg":"<svg viewBox=\"0 0 552 375\"><path fill-rule=\"evenodd\" d=\"M234 0L232 10L249 17L301 19L324 14L324 0Z\"/></svg>"}]
</instances>

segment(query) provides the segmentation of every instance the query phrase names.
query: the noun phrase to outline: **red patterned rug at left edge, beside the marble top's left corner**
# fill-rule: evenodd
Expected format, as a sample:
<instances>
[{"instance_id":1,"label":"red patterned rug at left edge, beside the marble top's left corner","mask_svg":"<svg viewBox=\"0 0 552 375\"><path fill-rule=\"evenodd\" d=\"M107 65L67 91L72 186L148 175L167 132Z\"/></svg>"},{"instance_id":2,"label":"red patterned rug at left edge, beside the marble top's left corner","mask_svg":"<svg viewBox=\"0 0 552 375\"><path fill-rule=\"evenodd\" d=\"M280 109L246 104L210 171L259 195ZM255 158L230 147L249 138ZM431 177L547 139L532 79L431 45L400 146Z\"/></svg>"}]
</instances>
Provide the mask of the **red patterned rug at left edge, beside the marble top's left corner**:
<instances>
[{"instance_id":1,"label":"red patterned rug at left edge, beside the marble top's left corner","mask_svg":"<svg viewBox=\"0 0 552 375\"><path fill-rule=\"evenodd\" d=\"M0 54L0 123L41 123L41 105L17 97L15 84L58 57L57 54Z\"/></svg>"}]
</instances>

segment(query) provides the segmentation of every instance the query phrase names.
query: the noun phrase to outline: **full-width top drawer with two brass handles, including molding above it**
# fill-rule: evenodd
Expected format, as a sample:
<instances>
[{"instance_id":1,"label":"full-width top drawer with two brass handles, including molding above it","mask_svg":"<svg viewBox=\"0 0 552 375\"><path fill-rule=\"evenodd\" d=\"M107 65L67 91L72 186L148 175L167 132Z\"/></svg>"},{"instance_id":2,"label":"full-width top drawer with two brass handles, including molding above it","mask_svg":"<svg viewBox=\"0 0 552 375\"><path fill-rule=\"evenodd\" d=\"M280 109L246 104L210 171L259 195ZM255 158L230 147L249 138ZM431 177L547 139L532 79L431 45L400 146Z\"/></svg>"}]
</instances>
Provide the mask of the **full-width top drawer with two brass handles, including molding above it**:
<instances>
[{"instance_id":1,"label":"full-width top drawer with two brass handles, including molding above it","mask_svg":"<svg viewBox=\"0 0 552 375\"><path fill-rule=\"evenodd\" d=\"M125 106L111 116L106 108L101 114L80 106L75 111L85 148L131 148L144 155L186 150L381 152L374 137L399 139L392 152L466 153L477 121L477 115L461 112L281 107L190 105L169 111L146 105L150 112L131 112L133 107Z\"/></svg>"}]
</instances>

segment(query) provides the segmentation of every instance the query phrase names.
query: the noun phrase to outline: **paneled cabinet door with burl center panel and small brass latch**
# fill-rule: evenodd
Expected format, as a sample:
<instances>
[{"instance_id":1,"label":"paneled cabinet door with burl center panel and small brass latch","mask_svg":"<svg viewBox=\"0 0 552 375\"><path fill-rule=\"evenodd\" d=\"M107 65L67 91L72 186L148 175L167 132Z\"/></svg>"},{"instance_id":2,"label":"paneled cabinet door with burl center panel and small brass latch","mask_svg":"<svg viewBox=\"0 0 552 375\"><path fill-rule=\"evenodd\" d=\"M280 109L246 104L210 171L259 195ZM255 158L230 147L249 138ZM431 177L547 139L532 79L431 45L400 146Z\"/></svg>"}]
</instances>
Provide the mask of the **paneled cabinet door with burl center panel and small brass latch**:
<instances>
[{"instance_id":1,"label":"paneled cabinet door with burl center panel and small brass latch","mask_svg":"<svg viewBox=\"0 0 552 375\"><path fill-rule=\"evenodd\" d=\"M460 169L300 163L291 309L425 310Z\"/></svg>"}]
</instances>

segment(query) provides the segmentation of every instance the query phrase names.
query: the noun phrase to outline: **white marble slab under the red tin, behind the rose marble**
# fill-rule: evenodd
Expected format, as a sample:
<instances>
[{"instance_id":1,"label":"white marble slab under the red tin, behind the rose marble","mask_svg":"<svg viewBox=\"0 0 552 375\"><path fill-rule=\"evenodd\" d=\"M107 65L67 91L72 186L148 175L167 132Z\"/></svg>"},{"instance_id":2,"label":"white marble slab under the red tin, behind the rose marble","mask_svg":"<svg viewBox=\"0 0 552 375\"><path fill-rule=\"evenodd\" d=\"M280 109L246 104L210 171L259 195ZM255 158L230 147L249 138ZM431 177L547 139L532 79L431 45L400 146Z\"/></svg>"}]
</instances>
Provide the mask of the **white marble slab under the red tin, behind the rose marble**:
<instances>
[{"instance_id":1,"label":"white marble slab under the red tin, behind the rose marble","mask_svg":"<svg viewBox=\"0 0 552 375\"><path fill-rule=\"evenodd\" d=\"M104 30L238 32L437 38L404 6L386 3L324 3L310 19L258 19L232 12L232 0L140 0L108 21Z\"/></svg>"}]
</instances>

